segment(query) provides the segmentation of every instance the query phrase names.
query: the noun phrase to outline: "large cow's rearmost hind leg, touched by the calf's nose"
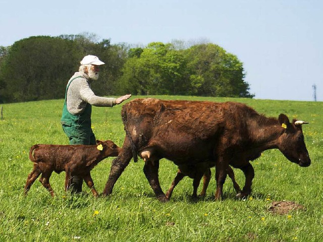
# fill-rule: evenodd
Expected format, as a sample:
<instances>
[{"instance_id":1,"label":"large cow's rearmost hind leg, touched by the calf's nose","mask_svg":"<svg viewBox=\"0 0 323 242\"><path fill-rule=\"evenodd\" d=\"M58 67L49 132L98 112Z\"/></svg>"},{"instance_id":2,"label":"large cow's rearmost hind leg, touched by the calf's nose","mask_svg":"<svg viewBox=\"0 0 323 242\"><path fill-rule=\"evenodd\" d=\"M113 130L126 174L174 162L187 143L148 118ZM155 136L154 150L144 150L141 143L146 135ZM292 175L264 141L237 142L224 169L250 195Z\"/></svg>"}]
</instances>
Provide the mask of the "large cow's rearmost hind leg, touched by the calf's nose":
<instances>
[{"instance_id":1,"label":"large cow's rearmost hind leg, touched by the calf's nose","mask_svg":"<svg viewBox=\"0 0 323 242\"><path fill-rule=\"evenodd\" d=\"M106 181L105 188L102 193L103 196L112 194L113 187L115 186L121 173L129 164L131 158L132 158L132 152L131 152L130 142L128 140L128 137L126 136L120 154L112 162L109 178Z\"/></svg>"}]
</instances>

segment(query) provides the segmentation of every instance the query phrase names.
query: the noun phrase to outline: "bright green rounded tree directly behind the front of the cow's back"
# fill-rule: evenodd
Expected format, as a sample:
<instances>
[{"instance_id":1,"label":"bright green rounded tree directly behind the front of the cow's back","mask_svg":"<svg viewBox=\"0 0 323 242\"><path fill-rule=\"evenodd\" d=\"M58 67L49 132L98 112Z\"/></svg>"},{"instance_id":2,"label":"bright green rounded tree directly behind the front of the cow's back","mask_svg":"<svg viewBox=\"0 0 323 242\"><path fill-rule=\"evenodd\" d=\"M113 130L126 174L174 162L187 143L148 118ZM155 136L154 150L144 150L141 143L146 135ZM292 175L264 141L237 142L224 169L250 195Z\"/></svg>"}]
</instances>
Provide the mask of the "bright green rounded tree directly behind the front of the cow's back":
<instances>
[{"instance_id":1,"label":"bright green rounded tree directly behind the front of the cow's back","mask_svg":"<svg viewBox=\"0 0 323 242\"><path fill-rule=\"evenodd\" d=\"M133 48L123 68L121 89L133 94L183 94L188 80L185 59L172 44L149 43Z\"/></svg>"}]
</instances>

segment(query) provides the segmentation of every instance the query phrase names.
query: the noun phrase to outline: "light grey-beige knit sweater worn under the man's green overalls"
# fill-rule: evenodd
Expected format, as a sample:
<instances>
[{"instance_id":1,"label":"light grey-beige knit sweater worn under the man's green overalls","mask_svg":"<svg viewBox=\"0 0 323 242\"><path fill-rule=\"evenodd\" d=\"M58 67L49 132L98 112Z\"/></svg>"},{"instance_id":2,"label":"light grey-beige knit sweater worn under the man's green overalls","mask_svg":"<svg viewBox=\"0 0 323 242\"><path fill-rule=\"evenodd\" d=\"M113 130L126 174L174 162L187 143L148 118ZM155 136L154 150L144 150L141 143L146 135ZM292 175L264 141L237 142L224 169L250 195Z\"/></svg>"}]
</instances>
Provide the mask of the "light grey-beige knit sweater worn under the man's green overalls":
<instances>
[{"instance_id":1,"label":"light grey-beige knit sweater worn under the man's green overalls","mask_svg":"<svg viewBox=\"0 0 323 242\"><path fill-rule=\"evenodd\" d=\"M67 110L74 114L80 114L84 111L86 103L98 107L112 107L116 105L116 98L99 97L91 90L91 80L83 72L76 72L71 79L81 76L83 78L75 79L67 90ZM71 80L70 79L70 80Z\"/></svg>"}]
</instances>

